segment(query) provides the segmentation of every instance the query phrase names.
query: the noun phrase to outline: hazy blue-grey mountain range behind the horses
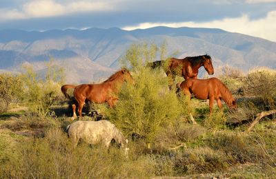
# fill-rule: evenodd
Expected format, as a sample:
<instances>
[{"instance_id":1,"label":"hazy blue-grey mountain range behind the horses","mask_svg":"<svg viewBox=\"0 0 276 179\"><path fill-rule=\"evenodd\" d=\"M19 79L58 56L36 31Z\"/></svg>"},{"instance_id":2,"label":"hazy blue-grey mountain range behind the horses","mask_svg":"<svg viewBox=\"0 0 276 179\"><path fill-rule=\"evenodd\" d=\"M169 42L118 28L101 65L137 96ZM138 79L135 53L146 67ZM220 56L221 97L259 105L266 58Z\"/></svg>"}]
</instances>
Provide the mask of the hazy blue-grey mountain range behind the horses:
<instances>
[{"instance_id":1,"label":"hazy blue-grey mountain range behind the horses","mask_svg":"<svg viewBox=\"0 0 276 179\"><path fill-rule=\"evenodd\" d=\"M43 71L43 61L55 59L66 70L67 83L100 81L119 68L119 59L132 43L161 45L176 57L209 54L215 67L230 65L241 70L276 68L276 43L254 36L210 28L119 28L48 30L27 32L0 30L0 72L17 72L23 63Z\"/></svg>"}]
</instances>

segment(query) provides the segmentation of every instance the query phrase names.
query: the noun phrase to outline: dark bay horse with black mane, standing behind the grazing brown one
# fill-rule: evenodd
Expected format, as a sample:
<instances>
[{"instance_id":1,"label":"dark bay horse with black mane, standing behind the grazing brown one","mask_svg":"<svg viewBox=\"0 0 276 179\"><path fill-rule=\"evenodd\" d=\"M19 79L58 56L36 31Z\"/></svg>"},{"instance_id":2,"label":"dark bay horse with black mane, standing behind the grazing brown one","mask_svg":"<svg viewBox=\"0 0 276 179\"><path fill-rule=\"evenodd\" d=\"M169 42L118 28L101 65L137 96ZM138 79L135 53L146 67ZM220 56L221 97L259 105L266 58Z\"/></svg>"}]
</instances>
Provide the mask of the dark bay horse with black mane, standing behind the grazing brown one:
<instances>
[{"instance_id":1,"label":"dark bay horse with black mane, standing behind the grazing brown one","mask_svg":"<svg viewBox=\"0 0 276 179\"><path fill-rule=\"evenodd\" d=\"M148 63L148 67L152 69L156 67L163 67L167 76L169 77L169 87L175 82L175 76L183 76L185 79L197 78L199 67L204 66L208 74L214 74L212 59L209 55L201 56L187 56L184 59L171 58L166 61L154 61Z\"/></svg>"}]
</instances>

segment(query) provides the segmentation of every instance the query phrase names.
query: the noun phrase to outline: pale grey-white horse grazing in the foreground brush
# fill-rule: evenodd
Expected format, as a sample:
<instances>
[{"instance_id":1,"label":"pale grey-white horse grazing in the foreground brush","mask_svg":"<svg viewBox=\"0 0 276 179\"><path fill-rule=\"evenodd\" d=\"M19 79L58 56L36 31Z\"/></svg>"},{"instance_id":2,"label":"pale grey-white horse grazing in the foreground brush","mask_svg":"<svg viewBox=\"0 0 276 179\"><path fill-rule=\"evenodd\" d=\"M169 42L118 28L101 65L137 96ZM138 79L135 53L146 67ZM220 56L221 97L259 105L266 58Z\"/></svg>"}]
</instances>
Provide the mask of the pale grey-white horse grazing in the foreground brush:
<instances>
[{"instance_id":1,"label":"pale grey-white horse grazing in the foreground brush","mask_svg":"<svg viewBox=\"0 0 276 179\"><path fill-rule=\"evenodd\" d=\"M74 147L77 147L79 139L92 145L104 143L106 147L110 147L111 140L114 139L124 149L125 154L128 152L128 139L124 138L121 131L119 131L119 129L108 120L79 120L68 125L66 131L71 138Z\"/></svg>"}]
</instances>

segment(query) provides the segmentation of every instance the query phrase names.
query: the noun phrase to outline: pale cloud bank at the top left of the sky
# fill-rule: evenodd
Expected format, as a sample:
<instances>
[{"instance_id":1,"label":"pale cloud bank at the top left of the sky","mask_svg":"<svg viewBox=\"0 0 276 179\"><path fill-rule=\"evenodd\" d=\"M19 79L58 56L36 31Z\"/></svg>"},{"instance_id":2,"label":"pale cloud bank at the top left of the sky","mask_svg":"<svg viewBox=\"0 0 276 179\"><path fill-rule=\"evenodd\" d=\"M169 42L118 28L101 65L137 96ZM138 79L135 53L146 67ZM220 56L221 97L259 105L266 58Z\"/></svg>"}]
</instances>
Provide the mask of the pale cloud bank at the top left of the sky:
<instances>
[{"instance_id":1,"label":"pale cloud bank at the top left of the sky","mask_svg":"<svg viewBox=\"0 0 276 179\"><path fill-rule=\"evenodd\" d=\"M108 1L72 1L68 4L57 3L55 0L29 1L21 7L0 9L0 20L32 19L39 17L57 17L76 12L99 12L114 10L114 4Z\"/></svg>"}]
</instances>

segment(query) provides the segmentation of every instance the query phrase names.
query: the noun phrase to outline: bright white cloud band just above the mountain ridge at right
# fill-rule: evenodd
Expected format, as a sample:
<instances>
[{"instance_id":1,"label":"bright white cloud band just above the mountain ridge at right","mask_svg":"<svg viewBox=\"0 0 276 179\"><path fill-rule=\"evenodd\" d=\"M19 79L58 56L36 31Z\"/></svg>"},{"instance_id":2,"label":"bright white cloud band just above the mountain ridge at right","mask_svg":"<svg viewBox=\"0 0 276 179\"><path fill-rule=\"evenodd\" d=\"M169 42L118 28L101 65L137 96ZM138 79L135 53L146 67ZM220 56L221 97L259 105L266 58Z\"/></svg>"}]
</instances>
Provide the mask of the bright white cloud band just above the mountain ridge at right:
<instances>
[{"instance_id":1,"label":"bright white cloud band just above the mountain ridge at right","mask_svg":"<svg viewBox=\"0 0 276 179\"><path fill-rule=\"evenodd\" d=\"M270 41L276 41L276 11L271 11L262 19L250 20L247 14L237 18L225 18L207 22L177 22L177 23L140 23L135 26L126 26L124 30L135 30L153 28L156 26L167 26L171 28L190 27L190 28L220 28L229 32L238 32L257 36Z\"/></svg>"}]
</instances>

